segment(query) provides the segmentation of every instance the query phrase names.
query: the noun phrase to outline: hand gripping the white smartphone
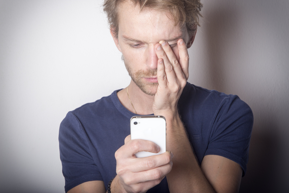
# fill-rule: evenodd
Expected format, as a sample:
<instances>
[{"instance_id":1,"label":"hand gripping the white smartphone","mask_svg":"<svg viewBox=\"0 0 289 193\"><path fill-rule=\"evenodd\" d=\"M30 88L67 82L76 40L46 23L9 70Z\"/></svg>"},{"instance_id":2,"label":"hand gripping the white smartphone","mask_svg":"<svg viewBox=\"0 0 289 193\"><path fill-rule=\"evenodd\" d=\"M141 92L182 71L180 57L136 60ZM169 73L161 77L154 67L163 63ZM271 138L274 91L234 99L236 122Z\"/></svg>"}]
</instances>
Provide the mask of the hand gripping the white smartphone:
<instances>
[{"instance_id":1,"label":"hand gripping the white smartphone","mask_svg":"<svg viewBox=\"0 0 289 193\"><path fill-rule=\"evenodd\" d=\"M136 158L134 154L139 151L157 153L160 147L151 141L130 140L127 136L125 144L115 152L116 174L127 192L145 192L159 184L172 169L171 152Z\"/></svg>"}]
</instances>

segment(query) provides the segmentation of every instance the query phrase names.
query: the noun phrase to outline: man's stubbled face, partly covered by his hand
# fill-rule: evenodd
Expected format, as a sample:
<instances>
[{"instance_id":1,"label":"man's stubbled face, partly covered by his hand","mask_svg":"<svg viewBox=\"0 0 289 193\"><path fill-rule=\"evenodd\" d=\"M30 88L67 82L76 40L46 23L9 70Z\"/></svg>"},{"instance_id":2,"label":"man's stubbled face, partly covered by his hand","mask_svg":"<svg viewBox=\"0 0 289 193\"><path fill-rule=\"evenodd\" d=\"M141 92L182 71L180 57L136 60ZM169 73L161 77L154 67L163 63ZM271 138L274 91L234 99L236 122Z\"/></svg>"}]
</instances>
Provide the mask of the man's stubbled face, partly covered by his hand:
<instances>
[{"instance_id":1,"label":"man's stubbled face, partly covered by his hand","mask_svg":"<svg viewBox=\"0 0 289 193\"><path fill-rule=\"evenodd\" d=\"M183 38L187 43L189 39L186 27L175 26L168 16L169 12L150 8L140 12L139 5L135 7L130 1L119 5L118 39L114 41L129 76L148 95L155 95L158 88L155 44L166 40L179 61L177 41Z\"/></svg>"}]
</instances>

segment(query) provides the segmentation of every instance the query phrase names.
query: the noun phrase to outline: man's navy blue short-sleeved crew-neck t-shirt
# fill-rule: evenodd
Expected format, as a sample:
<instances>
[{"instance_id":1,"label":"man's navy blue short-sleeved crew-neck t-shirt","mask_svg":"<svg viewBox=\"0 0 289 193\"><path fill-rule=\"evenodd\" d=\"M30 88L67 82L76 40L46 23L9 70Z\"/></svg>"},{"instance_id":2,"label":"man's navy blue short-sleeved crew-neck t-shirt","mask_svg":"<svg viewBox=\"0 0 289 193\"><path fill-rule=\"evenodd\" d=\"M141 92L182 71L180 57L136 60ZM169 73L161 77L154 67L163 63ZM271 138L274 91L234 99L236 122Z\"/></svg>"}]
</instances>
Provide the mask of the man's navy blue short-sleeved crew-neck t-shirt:
<instances>
[{"instance_id":1,"label":"man's navy blue short-sleeved crew-neck t-shirt","mask_svg":"<svg viewBox=\"0 0 289 193\"><path fill-rule=\"evenodd\" d=\"M121 104L118 91L68 112L61 122L65 192L86 181L101 180L107 186L116 176L114 153L124 145L130 118L136 115ZM199 163L205 155L220 155L240 164L244 176L253 126L250 107L237 95L188 82L178 107ZM166 178L149 192L169 192Z\"/></svg>"}]
</instances>

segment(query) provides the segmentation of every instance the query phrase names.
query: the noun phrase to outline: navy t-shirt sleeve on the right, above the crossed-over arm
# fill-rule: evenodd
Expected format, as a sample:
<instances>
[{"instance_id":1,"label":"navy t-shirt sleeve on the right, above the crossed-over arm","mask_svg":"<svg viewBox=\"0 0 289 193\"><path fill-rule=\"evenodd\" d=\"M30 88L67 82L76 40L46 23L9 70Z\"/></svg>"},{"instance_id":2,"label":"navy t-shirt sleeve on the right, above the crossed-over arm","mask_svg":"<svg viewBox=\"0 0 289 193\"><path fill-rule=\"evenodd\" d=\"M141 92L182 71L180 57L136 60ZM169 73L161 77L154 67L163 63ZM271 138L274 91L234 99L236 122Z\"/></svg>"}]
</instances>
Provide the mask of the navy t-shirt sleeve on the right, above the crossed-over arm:
<instances>
[{"instance_id":1,"label":"navy t-shirt sleeve on the right, above the crossed-over arm","mask_svg":"<svg viewBox=\"0 0 289 193\"><path fill-rule=\"evenodd\" d=\"M247 170L253 127L251 108L237 95L225 97L215 114L205 155L220 155L240 164L242 176Z\"/></svg>"}]
</instances>

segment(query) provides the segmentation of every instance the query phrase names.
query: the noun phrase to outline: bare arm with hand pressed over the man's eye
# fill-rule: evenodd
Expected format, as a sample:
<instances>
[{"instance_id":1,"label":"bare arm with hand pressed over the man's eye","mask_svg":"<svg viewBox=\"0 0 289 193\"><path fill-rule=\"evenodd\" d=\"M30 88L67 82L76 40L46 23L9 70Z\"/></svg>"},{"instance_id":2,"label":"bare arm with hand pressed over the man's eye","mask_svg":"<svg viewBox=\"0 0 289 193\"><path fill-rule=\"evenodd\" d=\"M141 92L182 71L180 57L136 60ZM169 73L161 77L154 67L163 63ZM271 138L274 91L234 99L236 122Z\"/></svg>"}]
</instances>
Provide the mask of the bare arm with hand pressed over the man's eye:
<instances>
[{"instance_id":1,"label":"bare arm with hand pressed over the man's eye","mask_svg":"<svg viewBox=\"0 0 289 193\"><path fill-rule=\"evenodd\" d=\"M173 168L167 174L170 192L238 192L242 170L237 163L208 155L200 167L194 156L177 111L177 102L188 79L188 51L182 39L177 48L172 50L164 41L155 45L159 87L153 112L166 117L167 149L174 152Z\"/></svg>"}]
</instances>

